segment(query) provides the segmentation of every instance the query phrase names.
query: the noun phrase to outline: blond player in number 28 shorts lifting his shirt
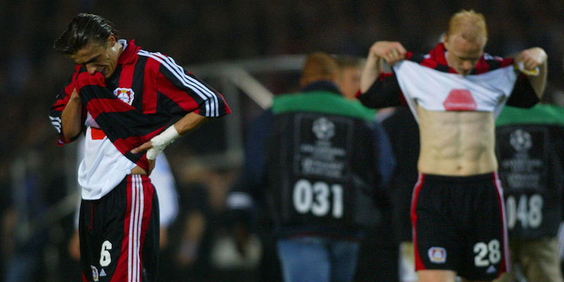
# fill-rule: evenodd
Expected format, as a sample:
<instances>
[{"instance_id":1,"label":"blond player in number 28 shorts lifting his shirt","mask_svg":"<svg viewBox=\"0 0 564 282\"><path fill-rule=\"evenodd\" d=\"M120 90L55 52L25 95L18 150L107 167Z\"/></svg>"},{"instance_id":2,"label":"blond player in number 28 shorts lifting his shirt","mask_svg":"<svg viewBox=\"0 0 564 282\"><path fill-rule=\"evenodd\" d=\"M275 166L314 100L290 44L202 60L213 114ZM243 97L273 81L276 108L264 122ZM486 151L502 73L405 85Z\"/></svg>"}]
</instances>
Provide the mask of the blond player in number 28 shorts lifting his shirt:
<instances>
[{"instance_id":1,"label":"blond player in number 28 shorts lifting his shirt","mask_svg":"<svg viewBox=\"0 0 564 282\"><path fill-rule=\"evenodd\" d=\"M491 281L508 270L494 121L504 104L538 102L547 56L539 47L515 58L490 56L487 38L484 16L460 11L429 54L376 42L362 72L364 105L407 104L419 123L411 216L421 282L455 281L457 274ZM393 73L382 73L383 61Z\"/></svg>"}]
</instances>

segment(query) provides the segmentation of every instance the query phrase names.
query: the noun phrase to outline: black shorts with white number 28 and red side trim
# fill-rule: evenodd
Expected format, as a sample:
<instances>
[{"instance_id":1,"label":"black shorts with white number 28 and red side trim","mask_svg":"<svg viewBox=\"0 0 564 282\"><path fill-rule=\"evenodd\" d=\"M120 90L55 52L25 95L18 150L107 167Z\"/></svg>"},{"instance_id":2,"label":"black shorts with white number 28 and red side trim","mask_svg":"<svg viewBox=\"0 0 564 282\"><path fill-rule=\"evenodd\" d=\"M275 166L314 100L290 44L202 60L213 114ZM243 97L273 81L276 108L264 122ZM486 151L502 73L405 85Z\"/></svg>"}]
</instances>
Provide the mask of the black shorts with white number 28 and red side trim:
<instances>
[{"instance_id":1,"label":"black shorts with white number 28 and red side trim","mask_svg":"<svg viewBox=\"0 0 564 282\"><path fill-rule=\"evenodd\" d=\"M508 271L503 191L496 173L420 174L412 197L415 270L489 281Z\"/></svg>"}]
</instances>

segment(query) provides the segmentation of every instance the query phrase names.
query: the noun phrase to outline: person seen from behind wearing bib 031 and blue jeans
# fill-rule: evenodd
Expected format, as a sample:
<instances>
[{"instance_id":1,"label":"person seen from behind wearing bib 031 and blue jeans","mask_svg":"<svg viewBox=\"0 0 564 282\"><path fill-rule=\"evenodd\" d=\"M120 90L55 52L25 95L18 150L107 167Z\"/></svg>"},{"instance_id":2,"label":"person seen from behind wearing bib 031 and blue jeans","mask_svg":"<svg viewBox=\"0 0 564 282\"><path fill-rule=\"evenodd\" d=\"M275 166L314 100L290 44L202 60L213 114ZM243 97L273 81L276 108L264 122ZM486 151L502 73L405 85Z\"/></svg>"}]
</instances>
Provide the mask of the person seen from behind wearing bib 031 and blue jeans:
<instances>
[{"instance_id":1,"label":"person seen from behind wearing bib 031 and blue jeans","mask_svg":"<svg viewBox=\"0 0 564 282\"><path fill-rule=\"evenodd\" d=\"M307 57L302 92L276 97L260 116L266 126L248 138L244 181L228 197L243 216L266 202L288 282L353 279L364 228L380 219L372 197L385 197L393 169L374 112L343 99L337 75L331 56Z\"/></svg>"}]
</instances>

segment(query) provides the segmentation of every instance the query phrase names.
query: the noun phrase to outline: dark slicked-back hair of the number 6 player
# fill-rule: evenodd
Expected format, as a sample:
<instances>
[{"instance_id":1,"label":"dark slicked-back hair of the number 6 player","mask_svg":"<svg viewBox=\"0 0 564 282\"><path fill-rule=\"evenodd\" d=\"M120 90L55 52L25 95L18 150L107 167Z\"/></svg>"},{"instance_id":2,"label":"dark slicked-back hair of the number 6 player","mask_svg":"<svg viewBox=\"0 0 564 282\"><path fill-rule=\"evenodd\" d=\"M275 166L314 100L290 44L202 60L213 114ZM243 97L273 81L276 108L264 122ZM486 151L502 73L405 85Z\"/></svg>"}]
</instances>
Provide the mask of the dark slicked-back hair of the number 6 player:
<instances>
[{"instance_id":1,"label":"dark slicked-back hair of the number 6 player","mask_svg":"<svg viewBox=\"0 0 564 282\"><path fill-rule=\"evenodd\" d=\"M79 13L66 25L66 30L55 40L53 47L61 54L72 55L90 42L99 42L106 47L107 38L112 34L118 37L118 31L109 20L90 13Z\"/></svg>"}]
</instances>

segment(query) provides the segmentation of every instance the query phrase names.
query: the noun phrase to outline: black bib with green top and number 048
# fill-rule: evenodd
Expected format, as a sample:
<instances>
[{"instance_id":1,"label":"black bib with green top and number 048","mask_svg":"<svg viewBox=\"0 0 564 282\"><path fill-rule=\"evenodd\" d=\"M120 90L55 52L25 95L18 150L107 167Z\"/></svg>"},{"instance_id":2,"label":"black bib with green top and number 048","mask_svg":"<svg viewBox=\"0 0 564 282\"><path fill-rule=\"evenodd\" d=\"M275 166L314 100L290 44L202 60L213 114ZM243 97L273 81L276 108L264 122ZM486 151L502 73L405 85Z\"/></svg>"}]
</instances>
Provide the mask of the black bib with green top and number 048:
<instances>
[{"instance_id":1,"label":"black bib with green top and number 048","mask_svg":"<svg viewBox=\"0 0 564 282\"><path fill-rule=\"evenodd\" d=\"M505 107L496 125L510 238L556 236L563 212L564 109Z\"/></svg>"}]
</instances>

